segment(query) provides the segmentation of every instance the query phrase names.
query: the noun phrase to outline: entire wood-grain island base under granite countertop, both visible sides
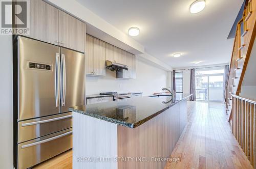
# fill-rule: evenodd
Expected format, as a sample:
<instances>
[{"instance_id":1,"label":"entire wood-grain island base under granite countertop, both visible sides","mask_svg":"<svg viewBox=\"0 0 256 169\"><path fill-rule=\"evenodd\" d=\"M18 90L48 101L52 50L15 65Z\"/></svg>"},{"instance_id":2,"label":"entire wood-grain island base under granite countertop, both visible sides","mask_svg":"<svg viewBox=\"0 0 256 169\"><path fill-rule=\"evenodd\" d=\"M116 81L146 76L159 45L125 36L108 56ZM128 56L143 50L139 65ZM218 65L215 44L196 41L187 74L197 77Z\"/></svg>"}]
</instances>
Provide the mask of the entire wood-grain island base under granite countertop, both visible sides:
<instances>
[{"instance_id":1,"label":"entire wood-grain island base under granite countertop, both visible sides","mask_svg":"<svg viewBox=\"0 0 256 169\"><path fill-rule=\"evenodd\" d=\"M166 162L154 160L172 154L186 126L186 111L183 100L136 128L73 112L73 168L164 168Z\"/></svg>"}]
</instances>

